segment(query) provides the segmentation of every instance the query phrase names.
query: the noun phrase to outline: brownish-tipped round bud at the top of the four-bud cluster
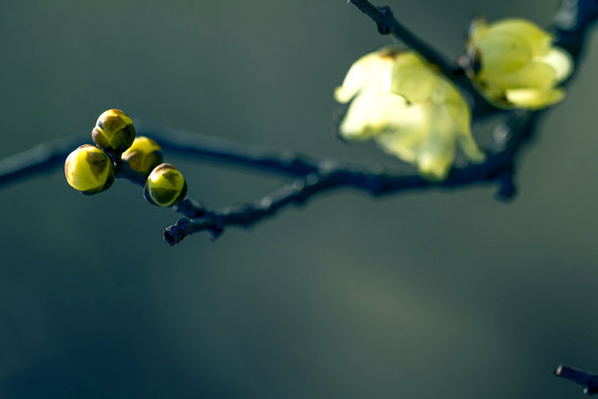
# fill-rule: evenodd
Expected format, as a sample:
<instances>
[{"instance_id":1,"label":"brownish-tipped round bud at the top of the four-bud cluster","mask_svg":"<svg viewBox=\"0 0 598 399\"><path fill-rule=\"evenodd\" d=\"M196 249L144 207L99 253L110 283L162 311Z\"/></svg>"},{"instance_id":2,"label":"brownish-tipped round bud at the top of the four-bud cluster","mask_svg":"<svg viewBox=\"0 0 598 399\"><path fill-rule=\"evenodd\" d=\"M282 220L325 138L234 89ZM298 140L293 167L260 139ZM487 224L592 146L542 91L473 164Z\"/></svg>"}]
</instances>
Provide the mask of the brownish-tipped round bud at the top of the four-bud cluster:
<instances>
[{"instance_id":1,"label":"brownish-tipped round bud at the top of the four-bud cluster","mask_svg":"<svg viewBox=\"0 0 598 399\"><path fill-rule=\"evenodd\" d=\"M95 145L111 153L122 153L135 140L135 126L121 110L107 110L100 115L92 131Z\"/></svg>"}]
</instances>

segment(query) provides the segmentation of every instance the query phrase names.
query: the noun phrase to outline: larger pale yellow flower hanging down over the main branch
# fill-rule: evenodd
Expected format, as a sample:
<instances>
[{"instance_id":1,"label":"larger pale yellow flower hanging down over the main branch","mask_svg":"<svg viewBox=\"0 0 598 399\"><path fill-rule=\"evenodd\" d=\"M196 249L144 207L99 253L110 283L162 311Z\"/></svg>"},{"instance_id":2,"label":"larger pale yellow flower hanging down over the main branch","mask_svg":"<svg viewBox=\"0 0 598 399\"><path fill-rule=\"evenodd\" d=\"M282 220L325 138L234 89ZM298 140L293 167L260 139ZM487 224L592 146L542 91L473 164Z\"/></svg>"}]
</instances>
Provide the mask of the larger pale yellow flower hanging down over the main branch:
<instances>
[{"instance_id":1,"label":"larger pale yellow flower hanging down over the main branch","mask_svg":"<svg viewBox=\"0 0 598 399\"><path fill-rule=\"evenodd\" d=\"M334 96L351 101L339 126L343 139L373 139L429 180L446 177L457 144L471 161L485 158L472 137L467 103L414 52L389 45L362 57Z\"/></svg>"}]
</instances>

